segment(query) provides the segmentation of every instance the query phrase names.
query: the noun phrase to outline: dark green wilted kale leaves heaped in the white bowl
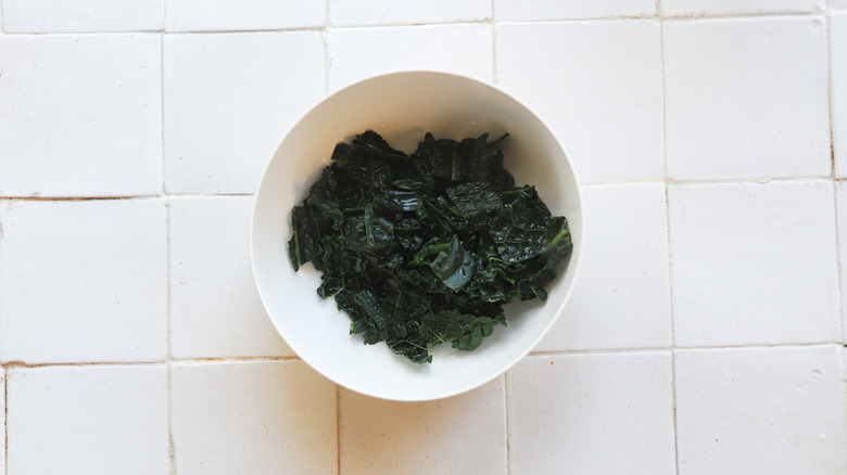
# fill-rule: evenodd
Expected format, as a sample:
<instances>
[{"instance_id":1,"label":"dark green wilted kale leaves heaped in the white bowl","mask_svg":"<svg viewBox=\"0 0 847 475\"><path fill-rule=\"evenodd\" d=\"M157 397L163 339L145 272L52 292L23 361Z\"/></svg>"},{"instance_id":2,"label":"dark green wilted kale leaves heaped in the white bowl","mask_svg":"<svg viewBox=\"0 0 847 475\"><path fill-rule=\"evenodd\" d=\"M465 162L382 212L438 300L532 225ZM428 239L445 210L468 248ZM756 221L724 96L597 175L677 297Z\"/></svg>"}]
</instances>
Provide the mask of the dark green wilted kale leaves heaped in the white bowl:
<instances>
[{"instance_id":1,"label":"dark green wilted kale leaves heaped in the white bowl","mask_svg":"<svg viewBox=\"0 0 847 475\"><path fill-rule=\"evenodd\" d=\"M515 187L501 142L427 133L412 155L372 130L339 143L332 163L292 210L294 270L323 272L351 334L385 342L415 362L450 342L470 351L503 304L540 298L572 248L568 222L534 187Z\"/></svg>"}]
</instances>

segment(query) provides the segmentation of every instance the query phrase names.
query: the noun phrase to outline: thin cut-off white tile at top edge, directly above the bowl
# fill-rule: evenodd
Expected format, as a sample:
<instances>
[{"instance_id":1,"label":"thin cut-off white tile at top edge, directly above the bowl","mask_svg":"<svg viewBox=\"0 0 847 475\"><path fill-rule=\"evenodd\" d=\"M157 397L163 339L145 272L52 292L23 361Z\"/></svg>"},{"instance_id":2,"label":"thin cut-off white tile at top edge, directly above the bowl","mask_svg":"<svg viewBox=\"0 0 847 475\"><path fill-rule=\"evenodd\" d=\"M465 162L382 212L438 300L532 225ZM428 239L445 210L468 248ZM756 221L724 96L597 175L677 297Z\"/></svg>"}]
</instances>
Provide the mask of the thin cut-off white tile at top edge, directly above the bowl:
<instances>
[{"instance_id":1,"label":"thin cut-off white tile at top edge, directly above the bowl","mask_svg":"<svg viewBox=\"0 0 847 475\"><path fill-rule=\"evenodd\" d=\"M328 0L332 26L472 22L491 18L491 0Z\"/></svg>"}]
</instances>

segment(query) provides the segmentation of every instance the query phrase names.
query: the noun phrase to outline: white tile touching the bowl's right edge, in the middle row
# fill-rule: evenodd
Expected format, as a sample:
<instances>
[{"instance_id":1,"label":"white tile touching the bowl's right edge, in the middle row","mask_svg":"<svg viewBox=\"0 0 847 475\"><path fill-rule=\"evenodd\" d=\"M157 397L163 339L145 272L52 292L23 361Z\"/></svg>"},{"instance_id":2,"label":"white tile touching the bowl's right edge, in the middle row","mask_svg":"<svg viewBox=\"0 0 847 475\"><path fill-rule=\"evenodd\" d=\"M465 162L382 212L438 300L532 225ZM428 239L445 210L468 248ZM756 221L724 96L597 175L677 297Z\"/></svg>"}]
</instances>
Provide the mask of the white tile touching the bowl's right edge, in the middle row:
<instances>
[{"instance_id":1,"label":"white tile touching the bowl's right edge, in the middle row","mask_svg":"<svg viewBox=\"0 0 847 475\"><path fill-rule=\"evenodd\" d=\"M565 311L535 350L669 346L665 187L602 184L582 192L590 245Z\"/></svg>"}]
</instances>

